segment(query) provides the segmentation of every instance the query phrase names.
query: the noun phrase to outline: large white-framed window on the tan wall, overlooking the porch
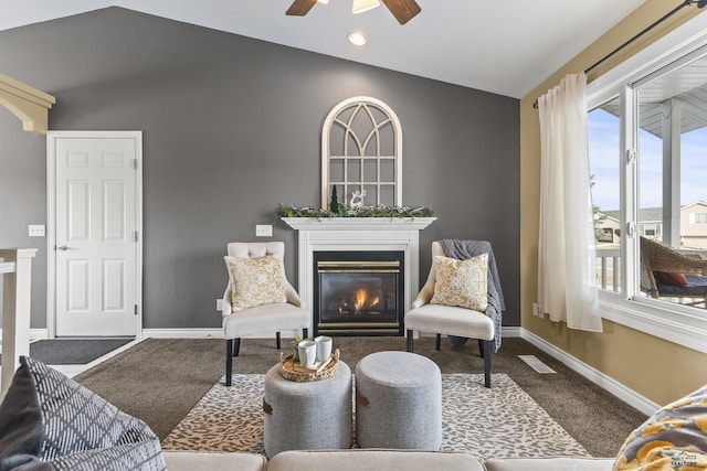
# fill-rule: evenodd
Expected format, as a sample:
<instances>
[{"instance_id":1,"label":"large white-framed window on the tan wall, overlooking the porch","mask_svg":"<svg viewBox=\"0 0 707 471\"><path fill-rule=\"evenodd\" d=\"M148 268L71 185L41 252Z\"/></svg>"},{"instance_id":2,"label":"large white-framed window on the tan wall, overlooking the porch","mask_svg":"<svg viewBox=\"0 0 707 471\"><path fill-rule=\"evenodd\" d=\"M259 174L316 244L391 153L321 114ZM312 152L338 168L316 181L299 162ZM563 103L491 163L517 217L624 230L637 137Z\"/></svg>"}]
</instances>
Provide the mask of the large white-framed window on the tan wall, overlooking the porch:
<instances>
[{"instance_id":1,"label":"large white-framed window on the tan wall, overlooking the porch","mask_svg":"<svg viewBox=\"0 0 707 471\"><path fill-rule=\"evenodd\" d=\"M696 17L588 86L602 315L705 353L707 306L654 299L640 239L707 258L706 31Z\"/></svg>"}]
</instances>

